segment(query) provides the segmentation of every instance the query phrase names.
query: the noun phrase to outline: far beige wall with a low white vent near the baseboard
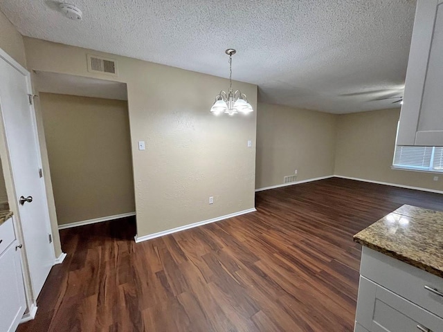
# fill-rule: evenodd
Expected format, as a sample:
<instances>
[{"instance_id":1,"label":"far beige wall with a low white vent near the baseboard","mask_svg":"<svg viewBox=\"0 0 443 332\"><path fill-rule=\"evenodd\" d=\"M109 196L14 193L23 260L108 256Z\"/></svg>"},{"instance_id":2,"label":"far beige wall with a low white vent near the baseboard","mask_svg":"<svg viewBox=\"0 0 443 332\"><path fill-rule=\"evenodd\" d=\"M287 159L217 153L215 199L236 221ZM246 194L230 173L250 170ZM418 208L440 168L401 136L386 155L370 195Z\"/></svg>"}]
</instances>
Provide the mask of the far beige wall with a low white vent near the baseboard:
<instances>
[{"instance_id":1,"label":"far beige wall with a low white vent near the baseboard","mask_svg":"<svg viewBox=\"0 0 443 332\"><path fill-rule=\"evenodd\" d=\"M334 174L335 146L335 115L259 103L255 187L280 185L296 169L297 181Z\"/></svg>"}]
</instances>

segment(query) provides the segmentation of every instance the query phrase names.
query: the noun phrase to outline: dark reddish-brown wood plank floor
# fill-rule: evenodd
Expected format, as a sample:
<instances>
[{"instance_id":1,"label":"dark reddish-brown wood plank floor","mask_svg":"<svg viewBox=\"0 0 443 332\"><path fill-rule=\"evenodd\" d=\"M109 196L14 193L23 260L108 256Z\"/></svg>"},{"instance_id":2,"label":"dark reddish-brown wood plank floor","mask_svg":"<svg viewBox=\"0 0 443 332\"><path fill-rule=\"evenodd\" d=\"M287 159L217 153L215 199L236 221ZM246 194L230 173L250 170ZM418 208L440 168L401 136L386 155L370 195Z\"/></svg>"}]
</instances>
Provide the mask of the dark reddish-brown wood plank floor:
<instances>
[{"instance_id":1,"label":"dark reddish-brown wood plank floor","mask_svg":"<svg viewBox=\"0 0 443 332\"><path fill-rule=\"evenodd\" d=\"M352 235L443 196L341 178L259 192L257 212L134 243L133 219L62 230L24 331L352 331Z\"/></svg>"}]
</instances>

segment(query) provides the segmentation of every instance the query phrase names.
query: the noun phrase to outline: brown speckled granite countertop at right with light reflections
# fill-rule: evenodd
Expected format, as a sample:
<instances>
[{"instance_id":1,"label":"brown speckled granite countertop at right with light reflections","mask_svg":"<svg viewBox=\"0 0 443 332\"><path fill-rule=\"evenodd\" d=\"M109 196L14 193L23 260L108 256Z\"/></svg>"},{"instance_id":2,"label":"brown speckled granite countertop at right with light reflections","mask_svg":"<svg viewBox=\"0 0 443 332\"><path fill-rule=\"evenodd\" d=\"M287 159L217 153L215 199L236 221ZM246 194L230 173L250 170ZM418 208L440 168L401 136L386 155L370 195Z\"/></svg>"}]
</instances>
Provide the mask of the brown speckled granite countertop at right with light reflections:
<instances>
[{"instance_id":1,"label":"brown speckled granite countertop at right with light reflections","mask_svg":"<svg viewBox=\"0 0 443 332\"><path fill-rule=\"evenodd\" d=\"M443 277L443 212L403 205L355 234L354 241Z\"/></svg>"}]
</instances>

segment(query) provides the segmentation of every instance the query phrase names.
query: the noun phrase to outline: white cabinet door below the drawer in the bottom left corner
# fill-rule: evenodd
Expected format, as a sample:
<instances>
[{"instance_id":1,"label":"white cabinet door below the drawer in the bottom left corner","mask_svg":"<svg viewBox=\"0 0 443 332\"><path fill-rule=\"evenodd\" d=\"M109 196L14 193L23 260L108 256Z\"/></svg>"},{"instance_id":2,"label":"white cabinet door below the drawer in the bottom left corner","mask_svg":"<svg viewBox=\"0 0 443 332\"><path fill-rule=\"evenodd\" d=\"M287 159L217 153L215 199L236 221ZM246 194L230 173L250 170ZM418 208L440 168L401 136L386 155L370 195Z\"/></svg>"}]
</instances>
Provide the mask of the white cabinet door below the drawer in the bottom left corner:
<instances>
[{"instance_id":1,"label":"white cabinet door below the drawer in the bottom left corner","mask_svg":"<svg viewBox=\"0 0 443 332\"><path fill-rule=\"evenodd\" d=\"M15 331L26 310L17 241L0 255L0 331Z\"/></svg>"}]
</instances>

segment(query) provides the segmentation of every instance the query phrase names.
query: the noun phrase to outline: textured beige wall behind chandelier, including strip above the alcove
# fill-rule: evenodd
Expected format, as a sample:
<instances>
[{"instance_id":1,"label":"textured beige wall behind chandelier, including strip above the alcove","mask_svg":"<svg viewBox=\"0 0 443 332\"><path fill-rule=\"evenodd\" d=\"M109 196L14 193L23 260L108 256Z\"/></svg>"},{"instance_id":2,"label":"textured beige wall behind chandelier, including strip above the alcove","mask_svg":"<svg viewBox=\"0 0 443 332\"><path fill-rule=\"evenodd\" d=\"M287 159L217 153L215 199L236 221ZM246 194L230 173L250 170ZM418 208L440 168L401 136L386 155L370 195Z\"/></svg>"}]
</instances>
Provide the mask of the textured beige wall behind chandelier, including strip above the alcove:
<instances>
[{"instance_id":1,"label":"textured beige wall behind chandelier, including strip above the alcove","mask_svg":"<svg viewBox=\"0 0 443 332\"><path fill-rule=\"evenodd\" d=\"M29 69L127 83L139 237L254 208L256 112L209 113L228 80L39 39L25 48ZM119 77L89 73L88 53L116 59ZM256 109L257 86L234 86Z\"/></svg>"}]
</instances>

